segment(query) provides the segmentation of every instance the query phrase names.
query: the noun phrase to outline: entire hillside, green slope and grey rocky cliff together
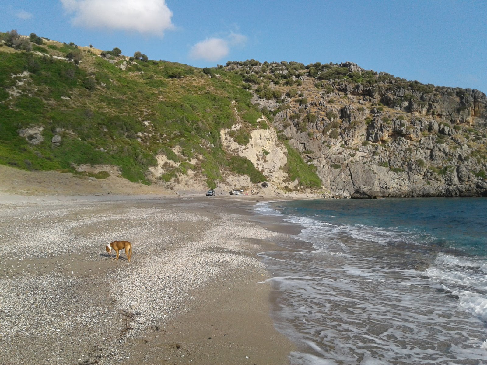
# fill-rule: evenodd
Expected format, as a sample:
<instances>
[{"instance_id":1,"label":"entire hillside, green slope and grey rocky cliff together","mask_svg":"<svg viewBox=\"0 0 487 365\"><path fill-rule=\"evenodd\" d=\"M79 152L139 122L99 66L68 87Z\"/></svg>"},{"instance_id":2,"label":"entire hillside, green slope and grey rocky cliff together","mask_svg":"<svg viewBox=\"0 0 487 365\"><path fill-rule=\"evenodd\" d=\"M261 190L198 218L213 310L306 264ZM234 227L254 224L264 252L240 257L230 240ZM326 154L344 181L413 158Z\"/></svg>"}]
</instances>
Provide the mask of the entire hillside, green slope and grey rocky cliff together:
<instances>
[{"instance_id":1,"label":"entire hillside, green slope and grey rocky cliff together","mask_svg":"<svg viewBox=\"0 0 487 365\"><path fill-rule=\"evenodd\" d=\"M1 39L0 164L100 179L119 171L176 191L259 193L267 181L276 194L349 197L362 185L385 197L486 194L480 91L353 63L202 70L33 35Z\"/></svg>"}]
</instances>

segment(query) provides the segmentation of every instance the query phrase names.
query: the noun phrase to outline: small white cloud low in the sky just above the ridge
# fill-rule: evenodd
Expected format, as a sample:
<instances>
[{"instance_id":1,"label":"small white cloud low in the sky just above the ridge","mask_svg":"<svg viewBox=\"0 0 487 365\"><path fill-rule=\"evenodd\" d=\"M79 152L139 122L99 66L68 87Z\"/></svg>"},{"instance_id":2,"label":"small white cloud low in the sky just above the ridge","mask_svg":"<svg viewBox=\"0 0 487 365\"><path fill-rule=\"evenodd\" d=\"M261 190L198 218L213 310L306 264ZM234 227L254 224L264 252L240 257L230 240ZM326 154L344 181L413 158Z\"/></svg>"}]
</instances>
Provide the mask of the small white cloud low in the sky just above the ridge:
<instances>
[{"instance_id":1,"label":"small white cloud low in the sky just above the ridge","mask_svg":"<svg viewBox=\"0 0 487 365\"><path fill-rule=\"evenodd\" d=\"M207 38L196 43L189 51L189 56L193 59L216 62L228 55L230 46L243 45L246 40L247 37L235 33L226 38Z\"/></svg>"}]
</instances>

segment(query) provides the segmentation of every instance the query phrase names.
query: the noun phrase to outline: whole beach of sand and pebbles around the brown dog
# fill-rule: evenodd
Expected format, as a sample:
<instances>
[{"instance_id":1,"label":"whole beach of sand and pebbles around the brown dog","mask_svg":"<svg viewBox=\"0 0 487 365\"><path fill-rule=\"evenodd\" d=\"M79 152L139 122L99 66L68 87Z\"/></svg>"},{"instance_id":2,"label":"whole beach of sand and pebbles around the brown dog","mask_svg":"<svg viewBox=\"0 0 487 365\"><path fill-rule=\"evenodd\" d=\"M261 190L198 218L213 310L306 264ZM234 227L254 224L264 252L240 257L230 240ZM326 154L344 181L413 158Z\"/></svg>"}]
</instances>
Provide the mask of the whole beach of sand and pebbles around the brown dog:
<instances>
[{"instance_id":1,"label":"whole beach of sand and pebbles around the brown dog","mask_svg":"<svg viewBox=\"0 0 487 365\"><path fill-rule=\"evenodd\" d=\"M299 229L259 223L261 200L2 195L2 363L288 364L257 254Z\"/></svg>"}]
</instances>

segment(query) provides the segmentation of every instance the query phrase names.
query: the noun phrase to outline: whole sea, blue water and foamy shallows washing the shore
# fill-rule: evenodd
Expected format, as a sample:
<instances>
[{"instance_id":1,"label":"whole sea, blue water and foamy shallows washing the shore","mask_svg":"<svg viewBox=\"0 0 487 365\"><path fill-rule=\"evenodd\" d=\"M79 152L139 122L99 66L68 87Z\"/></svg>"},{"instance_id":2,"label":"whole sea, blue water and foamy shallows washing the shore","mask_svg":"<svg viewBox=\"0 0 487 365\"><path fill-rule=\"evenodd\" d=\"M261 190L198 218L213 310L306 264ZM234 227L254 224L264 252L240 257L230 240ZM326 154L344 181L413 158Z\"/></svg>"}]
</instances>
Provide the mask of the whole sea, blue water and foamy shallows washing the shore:
<instances>
[{"instance_id":1,"label":"whole sea, blue water and foamy shallows washing the shore","mask_svg":"<svg viewBox=\"0 0 487 365\"><path fill-rule=\"evenodd\" d=\"M260 254L292 365L487 364L486 198L255 209L302 228Z\"/></svg>"}]
</instances>

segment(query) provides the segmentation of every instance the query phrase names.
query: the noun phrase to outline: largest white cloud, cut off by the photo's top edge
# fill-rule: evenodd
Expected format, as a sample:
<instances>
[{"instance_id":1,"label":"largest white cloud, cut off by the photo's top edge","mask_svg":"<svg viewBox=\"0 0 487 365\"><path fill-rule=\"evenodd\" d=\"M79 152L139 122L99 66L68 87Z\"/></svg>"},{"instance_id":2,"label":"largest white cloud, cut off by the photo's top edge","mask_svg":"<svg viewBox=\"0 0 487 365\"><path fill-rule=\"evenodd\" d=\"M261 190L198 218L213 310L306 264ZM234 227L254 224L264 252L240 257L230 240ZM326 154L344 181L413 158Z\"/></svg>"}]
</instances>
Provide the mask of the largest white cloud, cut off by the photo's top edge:
<instances>
[{"instance_id":1,"label":"largest white cloud, cut off by the photo's top edge","mask_svg":"<svg viewBox=\"0 0 487 365\"><path fill-rule=\"evenodd\" d=\"M61 0L75 25L163 36L174 28L165 0Z\"/></svg>"}]
</instances>

